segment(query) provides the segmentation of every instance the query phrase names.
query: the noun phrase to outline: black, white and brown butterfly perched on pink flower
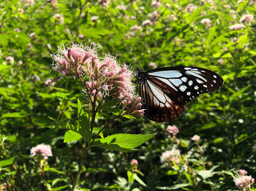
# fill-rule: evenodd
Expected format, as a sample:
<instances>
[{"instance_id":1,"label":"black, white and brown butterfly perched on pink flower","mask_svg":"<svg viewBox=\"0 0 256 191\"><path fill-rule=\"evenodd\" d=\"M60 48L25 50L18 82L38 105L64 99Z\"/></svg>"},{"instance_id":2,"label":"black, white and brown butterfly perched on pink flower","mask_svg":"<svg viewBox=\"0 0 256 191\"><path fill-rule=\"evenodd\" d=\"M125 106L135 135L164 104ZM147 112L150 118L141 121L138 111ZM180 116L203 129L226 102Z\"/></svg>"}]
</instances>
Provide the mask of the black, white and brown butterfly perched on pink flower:
<instances>
[{"instance_id":1,"label":"black, white and brown butterfly perched on pink flower","mask_svg":"<svg viewBox=\"0 0 256 191\"><path fill-rule=\"evenodd\" d=\"M223 85L221 76L198 67L166 67L150 71L137 69L144 116L157 122L178 118L185 104L202 93L213 92Z\"/></svg>"}]
</instances>

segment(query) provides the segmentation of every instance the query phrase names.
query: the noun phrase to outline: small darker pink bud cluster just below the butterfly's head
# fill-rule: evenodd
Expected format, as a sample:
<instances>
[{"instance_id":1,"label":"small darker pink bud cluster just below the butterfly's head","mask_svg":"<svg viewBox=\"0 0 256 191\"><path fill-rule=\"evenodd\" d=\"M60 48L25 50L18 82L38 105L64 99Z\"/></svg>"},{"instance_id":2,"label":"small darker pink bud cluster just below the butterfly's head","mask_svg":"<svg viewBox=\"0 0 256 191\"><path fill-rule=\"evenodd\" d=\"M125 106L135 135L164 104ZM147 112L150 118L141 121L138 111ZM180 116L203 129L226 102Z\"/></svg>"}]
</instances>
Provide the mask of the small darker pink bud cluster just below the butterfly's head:
<instances>
[{"instance_id":1,"label":"small darker pink bud cluster just below the butterfly's head","mask_svg":"<svg viewBox=\"0 0 256 191\"><path fill-rule=\"evenodd\" d=\"M135 95L133 98L127 98L122 101L122 105L126 112L132 116L143 116L145 109L139 109L142 106L141 97Z\"/></svg>"}]
</instances>

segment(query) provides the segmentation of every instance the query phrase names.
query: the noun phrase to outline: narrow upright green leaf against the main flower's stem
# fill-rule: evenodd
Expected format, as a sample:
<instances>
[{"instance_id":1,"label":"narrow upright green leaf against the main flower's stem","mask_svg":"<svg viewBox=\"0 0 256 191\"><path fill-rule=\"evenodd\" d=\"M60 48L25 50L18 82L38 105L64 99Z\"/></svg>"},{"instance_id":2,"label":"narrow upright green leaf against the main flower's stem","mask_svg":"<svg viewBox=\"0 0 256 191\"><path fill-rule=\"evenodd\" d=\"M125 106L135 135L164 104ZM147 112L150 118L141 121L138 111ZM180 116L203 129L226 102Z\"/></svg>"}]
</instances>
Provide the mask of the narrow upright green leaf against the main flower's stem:
<instances>
[{"instance_id":1,"label":"narrow upright green leaf against the main flower's stem","mask_svg":"<svg viewBox=\"0 0 256 191\"><path fill-rule=\"evenodd\" d=\"M91 141L91 130L90 130L90 124L87 116L85 115L85 112L82 108L81 102L79 99L77 99L77 104L78 104L78 122L79 125L81 126L81 131L85 135L85 140L89 144Z\"/></svg>"}]
</instances>

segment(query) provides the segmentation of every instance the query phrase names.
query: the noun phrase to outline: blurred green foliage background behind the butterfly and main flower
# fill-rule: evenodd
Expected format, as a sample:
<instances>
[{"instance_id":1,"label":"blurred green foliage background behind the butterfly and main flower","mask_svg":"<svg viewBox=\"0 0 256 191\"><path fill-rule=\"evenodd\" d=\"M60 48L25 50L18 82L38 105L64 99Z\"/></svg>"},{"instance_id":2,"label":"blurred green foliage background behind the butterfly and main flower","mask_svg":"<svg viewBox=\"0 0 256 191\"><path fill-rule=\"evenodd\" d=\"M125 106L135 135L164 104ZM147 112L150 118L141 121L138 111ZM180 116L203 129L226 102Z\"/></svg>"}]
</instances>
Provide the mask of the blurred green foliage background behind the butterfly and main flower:
<instances>
[{"instance_id":1,"label":"blurred green foliage background behind the butterfly and main flower","mask_svg":"<svg viewBox=\"0 0 256 191\"><path fill-rule=\"evenodd\" d=\"M236 190L229 172L244 169L256 177L256 33L254 19L241 20L245 14L255 14L254 0L1 1L0 160L15 157L1 168L2 186L8 183L7 190L45 190L37 163L30 158L31 147L40 143L53 148L53 157L48 159L51 169L45 170L47 183L53 190L72 185L85 142L63 143L66 130L55 126L48 116L75 124L77 102L60 100L51 93L79 94L82 84L72 78L52 87L45 84L50 75L57 76L51 71L49 54L62 43L70 46L71 41L98 46L101 57L110 53L121 63L134 63L125 50L146 71L152 69L152 62L158 67L196 66L224 79L221 89L188 103L185 112L169 123L145 117L124 118L123 124L112 122L103 131L105 136L158 134L138 152L91 149L78 188ZM240 22L244 23L239 30L231 27ZM111 115L101 112L97 126L104 125ZM165 135L167 125L180 130L179 149L195 173L197 186L187 185L191 175L185 164L174 168L160 162L162 152L176 146ZM190 140L195 134L201 137L203 157ZM140 178L147 187L127 182L126 171L133 158L139 162L145 175ZM198 173L202 164L209 170L208 176Z\"/></svg>"}]
</instances>

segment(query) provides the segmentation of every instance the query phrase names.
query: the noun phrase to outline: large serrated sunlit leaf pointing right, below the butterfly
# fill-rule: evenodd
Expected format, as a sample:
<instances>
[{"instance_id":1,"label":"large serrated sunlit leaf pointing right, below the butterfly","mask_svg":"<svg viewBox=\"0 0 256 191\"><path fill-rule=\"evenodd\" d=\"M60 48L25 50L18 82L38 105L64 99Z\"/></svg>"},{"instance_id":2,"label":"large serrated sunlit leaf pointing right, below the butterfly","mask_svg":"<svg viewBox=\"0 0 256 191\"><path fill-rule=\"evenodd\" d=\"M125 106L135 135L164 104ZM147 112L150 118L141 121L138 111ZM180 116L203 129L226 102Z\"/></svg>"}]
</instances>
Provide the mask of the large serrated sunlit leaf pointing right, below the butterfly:
<instances>
[{"instance_id":1,"label":"large serrated sunlit leaf pointing right, below the butterfly","mask_svg":"<svg viewBox=\"0 0 256 191\"><path fill-rule=\"evenodd\" d=\"M100 139L92 144L103 149L120 151L125 149L134 149L147 140L154 137L157 133L150 135L133 135L133 134L114 134Z\"/></svg>"}]
</instances>

